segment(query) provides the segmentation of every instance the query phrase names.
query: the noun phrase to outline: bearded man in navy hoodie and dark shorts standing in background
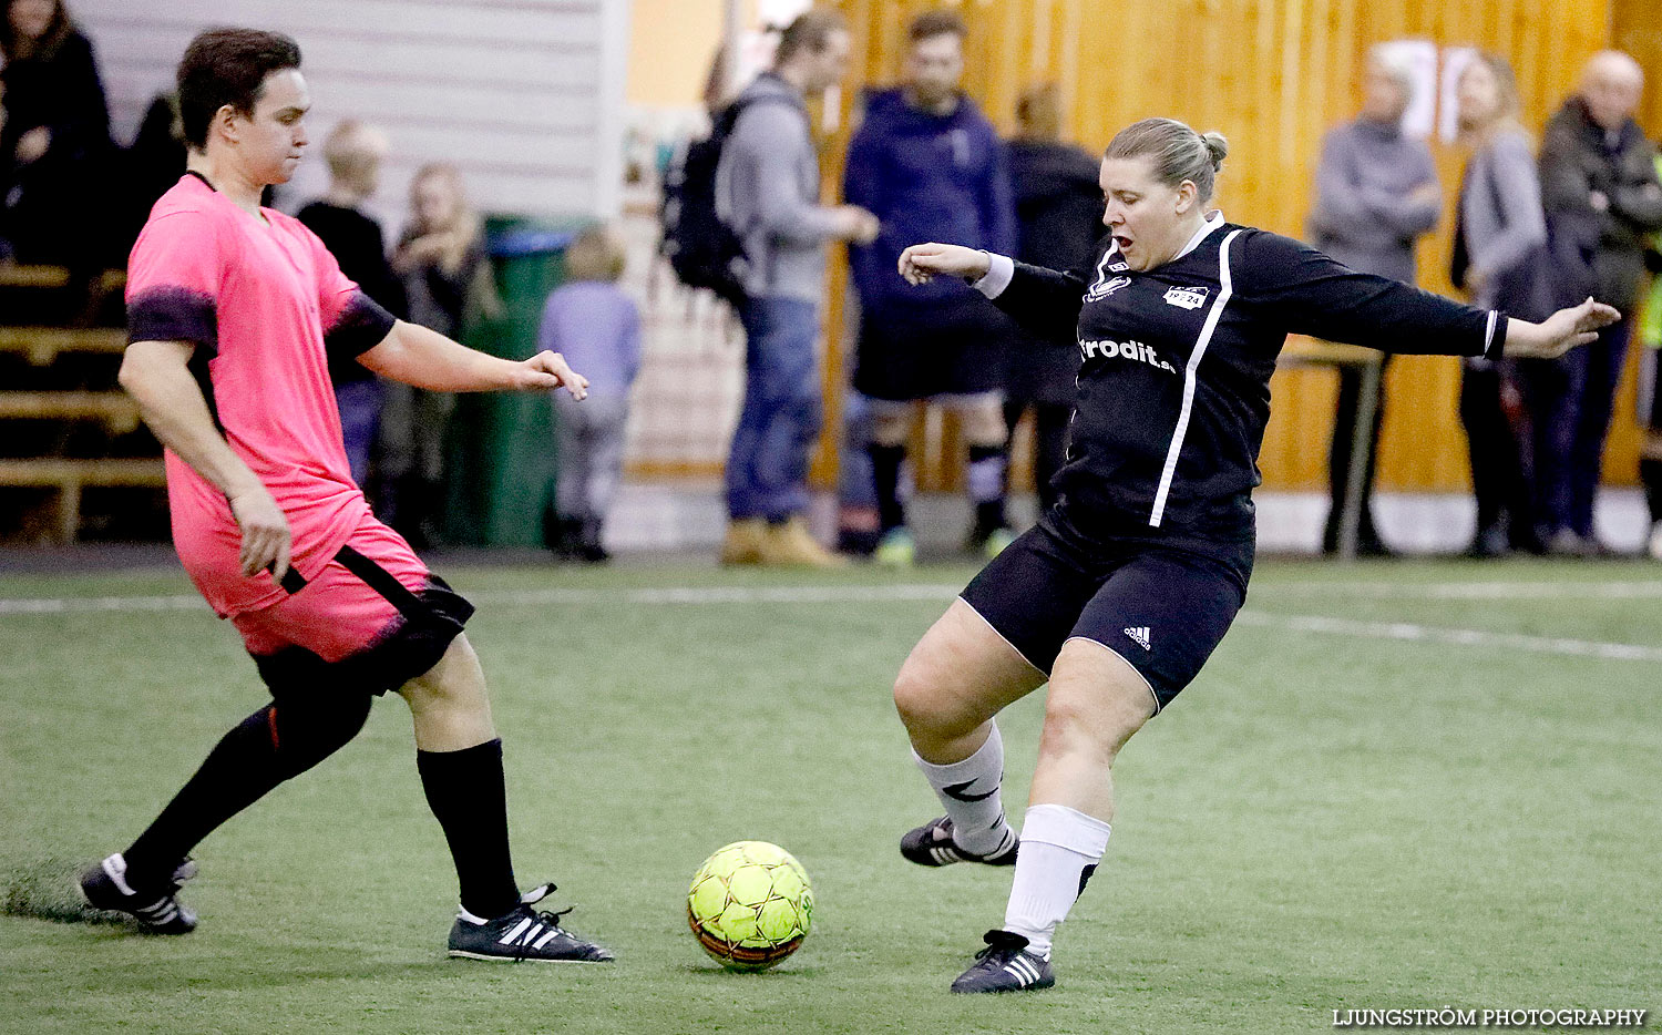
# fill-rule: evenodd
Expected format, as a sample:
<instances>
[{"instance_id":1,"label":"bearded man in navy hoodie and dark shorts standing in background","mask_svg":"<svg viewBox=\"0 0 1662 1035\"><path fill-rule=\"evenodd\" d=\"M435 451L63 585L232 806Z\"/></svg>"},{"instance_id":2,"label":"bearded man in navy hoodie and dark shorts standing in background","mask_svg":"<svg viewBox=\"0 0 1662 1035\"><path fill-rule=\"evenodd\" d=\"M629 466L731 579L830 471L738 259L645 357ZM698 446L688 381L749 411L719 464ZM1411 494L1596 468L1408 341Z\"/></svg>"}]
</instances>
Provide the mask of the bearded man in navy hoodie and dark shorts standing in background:
<instances>
[{"instance_id":1,"label":"bearded man in navy hoodie and dark shorts standing in background","mask_svg":"<svg viewBox=\"0 0 1662 1035\"><path fill-rule=\"evenodd\" d=\"M914 241L956 241L999 254L1015 248L1004 145L959 90L966 33L952 12L912 20L906 81L871 95L844 173L848 199L883 221L871 246L853 249L861 306L854 389L869 399L873 415L876 558L899 567L916 553L899 485L919 400L962 414L976 505L971 547L992 555L1012 538L1004 517L1001 359L1009 322L952 277L912 289L896 274L901 249Z\"/></svg>"}]
</instances>

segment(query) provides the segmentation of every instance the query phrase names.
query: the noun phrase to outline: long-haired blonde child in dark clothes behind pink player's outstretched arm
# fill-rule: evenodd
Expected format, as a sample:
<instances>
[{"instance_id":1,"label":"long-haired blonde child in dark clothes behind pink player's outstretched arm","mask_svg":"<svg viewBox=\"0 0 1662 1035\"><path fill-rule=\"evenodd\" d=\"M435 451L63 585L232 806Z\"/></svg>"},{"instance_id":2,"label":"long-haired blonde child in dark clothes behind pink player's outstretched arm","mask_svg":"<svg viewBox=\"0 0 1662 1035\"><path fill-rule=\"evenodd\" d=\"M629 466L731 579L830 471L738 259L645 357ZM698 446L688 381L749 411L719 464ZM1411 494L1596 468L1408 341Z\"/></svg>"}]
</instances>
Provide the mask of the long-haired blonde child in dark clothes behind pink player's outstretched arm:
<instances>
[{"instance_id":1,"label":"long-haired blonde child in dark clothes behind pink player's outstretched arm","mask_svg":"<svg viewBox=\"0 0 1662 1035\"><path fill-rule=\"evenodd\" d=\"M445 163L416 169L411 224L392 253L404 277L411 322L460 337L469 312L499 307L484 251L484 223L467 203L462 173ZM455 397L404 384L386 385L377 450L382 517L417 548L439 540L444 435Z\"/></svg>"}]
</instances>

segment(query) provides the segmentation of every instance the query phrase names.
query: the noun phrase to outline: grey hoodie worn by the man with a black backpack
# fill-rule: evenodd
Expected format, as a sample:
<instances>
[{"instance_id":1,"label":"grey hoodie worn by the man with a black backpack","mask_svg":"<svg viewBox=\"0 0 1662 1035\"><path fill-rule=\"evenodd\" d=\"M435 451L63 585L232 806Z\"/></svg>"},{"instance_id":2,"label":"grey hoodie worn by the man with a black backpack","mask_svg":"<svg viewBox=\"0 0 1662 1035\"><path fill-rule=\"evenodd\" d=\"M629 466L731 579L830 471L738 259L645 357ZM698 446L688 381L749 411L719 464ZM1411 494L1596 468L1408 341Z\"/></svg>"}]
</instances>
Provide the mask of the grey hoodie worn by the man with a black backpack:
<instances>
[{"instance_id":1,"label":"grey hoodie worn by the man with a black backpack","mask_svg":"<svg viewBox=\"0 0 1662 1035\"><path fill-rule=\"evenodd\" d=\"M819 302L836 211L819 204L819 155L803 93L766 71L735 103L745 110L721 146L716 211L750 259L753 297Z\"/></svg>"}]
</instances>

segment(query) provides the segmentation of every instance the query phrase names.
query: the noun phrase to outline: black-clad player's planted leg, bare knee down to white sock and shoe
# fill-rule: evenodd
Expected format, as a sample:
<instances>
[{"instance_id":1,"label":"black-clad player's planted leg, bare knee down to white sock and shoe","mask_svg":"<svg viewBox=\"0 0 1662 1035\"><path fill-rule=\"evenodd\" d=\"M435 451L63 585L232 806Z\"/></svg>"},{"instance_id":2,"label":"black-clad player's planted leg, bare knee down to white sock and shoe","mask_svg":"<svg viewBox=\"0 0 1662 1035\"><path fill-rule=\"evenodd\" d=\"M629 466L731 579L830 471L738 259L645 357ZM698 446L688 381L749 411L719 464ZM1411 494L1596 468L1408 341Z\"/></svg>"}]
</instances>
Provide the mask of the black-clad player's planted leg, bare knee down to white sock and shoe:
<instances>
[{"instance_id":1,"label":"black-clad player's planted leg, bare knee down to white sock and shoe","mask_svg":"<svg viewBox=\"0 0 1662 1035\"><path fill-rule=\"evenodd\" d=\"M1114 759L1153 713L1148 683L1117 653L1080 638L1062 645L1004 927L987 932L987 949L954 992L1055 983L1050 939L1109 846Z\"/></svg>"}]
</instances>

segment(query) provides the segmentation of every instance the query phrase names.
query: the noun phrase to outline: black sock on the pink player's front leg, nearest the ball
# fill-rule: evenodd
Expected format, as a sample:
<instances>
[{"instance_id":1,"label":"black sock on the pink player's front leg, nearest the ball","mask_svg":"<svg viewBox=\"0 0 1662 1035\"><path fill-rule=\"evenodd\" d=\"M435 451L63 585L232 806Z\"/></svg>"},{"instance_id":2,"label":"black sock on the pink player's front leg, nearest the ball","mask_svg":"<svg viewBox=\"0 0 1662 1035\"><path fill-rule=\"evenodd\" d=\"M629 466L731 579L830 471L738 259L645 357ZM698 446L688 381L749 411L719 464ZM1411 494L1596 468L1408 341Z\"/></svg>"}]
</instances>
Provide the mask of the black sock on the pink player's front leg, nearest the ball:
<instances>
[{"instance_id":1,"label":"black sock on the pink player's front leg, nearest the ball","mask_svg":"<svg viewBox=\"0 0 1662 1035\"><path fill-rule=\"evenodd\" d=\"M462 909L495 919L519 905L509 854L509 802L502 739L462 751L417 751L427 806L444 827L462 885Z\"/></svg>"}]
</instances>

